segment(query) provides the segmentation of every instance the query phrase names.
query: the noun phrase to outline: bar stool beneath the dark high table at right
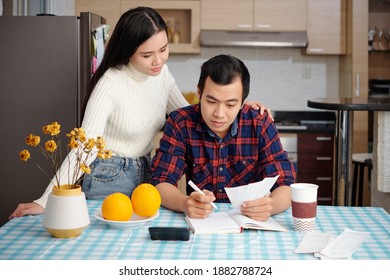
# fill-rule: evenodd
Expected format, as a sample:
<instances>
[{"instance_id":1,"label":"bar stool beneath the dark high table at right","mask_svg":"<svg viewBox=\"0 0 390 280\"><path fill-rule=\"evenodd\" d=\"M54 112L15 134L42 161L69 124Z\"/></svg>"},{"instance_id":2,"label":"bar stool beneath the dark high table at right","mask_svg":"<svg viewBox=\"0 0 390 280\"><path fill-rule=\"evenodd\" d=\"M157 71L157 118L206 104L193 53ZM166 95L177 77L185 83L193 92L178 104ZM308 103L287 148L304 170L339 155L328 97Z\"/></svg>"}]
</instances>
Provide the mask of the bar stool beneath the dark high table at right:
<instances>
[{"instance_id":1,"label":"bar stool beneath the dark high table at right","mask_svg":"<svg viewBox=\"0 0 390 280\"><path fill-rule=\"evenodd\" d=\"M364 169L365 167L367 167L368 180L371 181L372 153L352 154L352 166L354 168L354 171L352 181L351 205L363 206Z\"/></svg>"}]
</instances>

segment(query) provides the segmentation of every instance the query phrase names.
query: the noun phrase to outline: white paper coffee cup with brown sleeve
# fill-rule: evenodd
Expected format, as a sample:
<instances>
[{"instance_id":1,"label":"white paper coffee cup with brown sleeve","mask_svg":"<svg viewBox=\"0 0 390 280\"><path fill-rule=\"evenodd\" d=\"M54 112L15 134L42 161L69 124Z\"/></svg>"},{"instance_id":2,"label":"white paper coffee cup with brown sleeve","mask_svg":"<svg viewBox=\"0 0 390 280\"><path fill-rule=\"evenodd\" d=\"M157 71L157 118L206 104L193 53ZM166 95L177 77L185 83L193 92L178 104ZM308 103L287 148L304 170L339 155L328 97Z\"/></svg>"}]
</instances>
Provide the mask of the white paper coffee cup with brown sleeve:
<instances>
[{"instance_id":1,"label":"white paper coffee cup with brown sleeve","mask_svg":"<svg viewBox=\"0 0 390 280\"><path fill-rule=\"evenodd\" d=\"M291 208L295 231L313 231L317 215L318 185L291 184Z\"/></svg>"}]
</instances>

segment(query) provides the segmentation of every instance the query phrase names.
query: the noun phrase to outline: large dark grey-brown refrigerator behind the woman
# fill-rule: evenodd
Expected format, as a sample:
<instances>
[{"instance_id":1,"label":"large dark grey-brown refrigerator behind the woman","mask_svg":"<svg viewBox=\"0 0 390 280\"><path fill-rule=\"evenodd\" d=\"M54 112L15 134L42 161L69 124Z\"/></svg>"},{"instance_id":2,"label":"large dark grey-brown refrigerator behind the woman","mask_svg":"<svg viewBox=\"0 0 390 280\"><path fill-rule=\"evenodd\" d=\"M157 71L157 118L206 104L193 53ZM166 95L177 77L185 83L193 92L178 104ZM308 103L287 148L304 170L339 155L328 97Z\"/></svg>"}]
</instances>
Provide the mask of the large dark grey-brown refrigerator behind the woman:
<instances>
[{"instance_id":1,"label":"large dark grey-brown refrigerator behind the woman","mask_svg":"<svg viewBox=\"0 0 390 280\"><path fill-rule=\"evenodd\" d=\"M0 16L0 225L49 183L32 162L19 159L25 137L42 135L42 126L57 121L65 143L65 134L80 125L86 87L104 52L96 34L105 22L92 13Z\"/></svg>"}]
</instances>

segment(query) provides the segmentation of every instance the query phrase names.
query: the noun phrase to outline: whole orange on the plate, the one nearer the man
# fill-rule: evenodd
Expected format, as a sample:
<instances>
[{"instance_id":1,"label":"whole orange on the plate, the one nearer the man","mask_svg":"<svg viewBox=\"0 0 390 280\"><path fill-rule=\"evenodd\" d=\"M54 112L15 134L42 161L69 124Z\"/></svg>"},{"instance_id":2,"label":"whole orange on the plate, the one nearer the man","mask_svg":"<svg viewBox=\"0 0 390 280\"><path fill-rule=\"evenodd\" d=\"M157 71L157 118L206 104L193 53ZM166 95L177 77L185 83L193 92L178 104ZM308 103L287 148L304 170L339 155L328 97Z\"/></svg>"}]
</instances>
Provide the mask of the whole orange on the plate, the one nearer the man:
<instances>
[{"instance_id":1,"label":"whole orange on the plate, the one nearer the man","mask_svg":"<svg viewBox=\"0 0 390 280\"><path fill-rule=\"evenodd\" d=\"M141 217L151 217L157 213L161 205L161 196L151 184L141 184L131 195L134 212Z\"/></svg>"}]
</instances>

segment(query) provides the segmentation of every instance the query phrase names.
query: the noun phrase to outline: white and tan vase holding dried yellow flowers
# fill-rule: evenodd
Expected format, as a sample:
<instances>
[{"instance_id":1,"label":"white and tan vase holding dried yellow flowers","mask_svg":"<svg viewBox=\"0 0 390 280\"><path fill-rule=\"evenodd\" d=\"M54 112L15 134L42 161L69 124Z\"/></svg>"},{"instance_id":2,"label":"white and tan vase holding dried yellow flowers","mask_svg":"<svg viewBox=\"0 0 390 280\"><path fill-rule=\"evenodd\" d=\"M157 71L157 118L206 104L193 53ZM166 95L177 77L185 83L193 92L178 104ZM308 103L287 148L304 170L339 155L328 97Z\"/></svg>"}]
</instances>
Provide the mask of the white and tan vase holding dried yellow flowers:
<instances>
[{"instance_id":1,"label":"white and tan vase holding dried yellow flowers","mask_svg":"<svg viewBox=\"0 0 390 280\"><path fill-rule=\"evenodd\" d=\"M49 195L42 225L57 238L79 236L90 224L87 201L81 187L54 187Z\"/></svg>"}]
</instances>

